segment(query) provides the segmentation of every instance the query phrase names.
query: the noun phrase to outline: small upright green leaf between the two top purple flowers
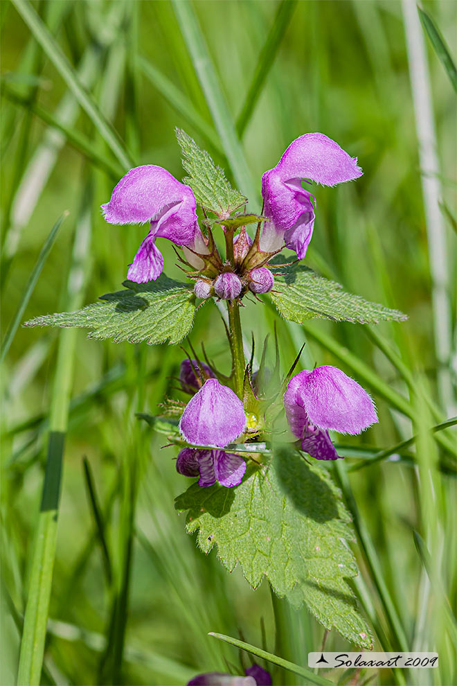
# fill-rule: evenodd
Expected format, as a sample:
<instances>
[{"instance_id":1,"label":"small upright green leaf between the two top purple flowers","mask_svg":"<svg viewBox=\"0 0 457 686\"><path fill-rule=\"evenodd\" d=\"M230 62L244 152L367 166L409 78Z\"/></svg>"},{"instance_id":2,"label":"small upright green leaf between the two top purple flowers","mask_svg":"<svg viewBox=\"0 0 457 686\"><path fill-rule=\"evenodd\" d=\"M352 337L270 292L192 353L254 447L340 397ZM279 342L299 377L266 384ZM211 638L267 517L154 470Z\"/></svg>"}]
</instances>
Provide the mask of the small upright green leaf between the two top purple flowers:
<instances>
[{"instance_id":1,"label":"small upright green leaf between the two top purple flowers","mask_svg":"<svg viewBox=\"0 0 457 686\"><path fill-rule=\"evenodd\" d=\"M176 130L176 137L183 153L183 168L190 175L183 182L192 188L201 206L226 218L247 203L247 198L232 188L224 170L214 164L206 150L200 150L197 143L182 129Z\"/></svg>"}]
</instances>

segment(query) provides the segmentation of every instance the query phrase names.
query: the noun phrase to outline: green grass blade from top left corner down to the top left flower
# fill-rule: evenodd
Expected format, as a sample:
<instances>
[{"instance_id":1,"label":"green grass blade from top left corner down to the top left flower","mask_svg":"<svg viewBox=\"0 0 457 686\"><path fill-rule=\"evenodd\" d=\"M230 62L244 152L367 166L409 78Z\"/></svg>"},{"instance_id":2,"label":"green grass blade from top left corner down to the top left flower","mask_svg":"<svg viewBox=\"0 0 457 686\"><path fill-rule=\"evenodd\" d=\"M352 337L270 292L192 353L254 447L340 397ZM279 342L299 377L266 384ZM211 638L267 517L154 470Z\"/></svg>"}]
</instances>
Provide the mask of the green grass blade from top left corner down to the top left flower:
<instances>
[{"instance_id":1,"label":"green grass blade from top left corner down to the top left flower","mask_svg":"<svg viewBox=\"0 0 457 686\"><path fill-rule=\"evenodd\" d=\"M116 155L120 164L122 164L125 169L134 166L134 161L125 150L125 146L122 141L120 141L118 134L113 127L111 127L111 124L107 121L102 112L100 112L100 109L89 92L81 84L69 60L67 60L48 28L43 24L42 20L37 15L37 12L35 12L27 0L12 0L12 3L42 46L46 55L48 55L48 58L53 63L55 69L60 73L60 76L62 76L66 85L78 100L78 103L80 103L82 109L84 109L84 112L89 116L102 138L106 141L114 155Z\"/></svg>"}]
</instances>

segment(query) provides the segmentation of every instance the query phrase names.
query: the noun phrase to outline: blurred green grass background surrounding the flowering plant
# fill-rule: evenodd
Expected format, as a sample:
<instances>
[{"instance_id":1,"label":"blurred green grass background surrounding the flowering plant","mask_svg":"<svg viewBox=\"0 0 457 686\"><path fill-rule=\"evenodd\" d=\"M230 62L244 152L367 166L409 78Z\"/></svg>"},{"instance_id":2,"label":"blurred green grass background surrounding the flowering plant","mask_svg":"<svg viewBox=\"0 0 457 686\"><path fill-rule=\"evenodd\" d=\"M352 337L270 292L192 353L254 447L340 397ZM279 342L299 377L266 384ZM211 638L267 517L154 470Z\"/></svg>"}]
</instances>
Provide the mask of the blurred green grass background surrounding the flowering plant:
<instances>
[{"instance_id":1,"label":"blurred green grass background surrounding the flowering plant","mask_svg":"<svg viewBox=\"0 0 457 686\"><path fill-rule=\"evenodd\" d=\"M323 132L357 155L364 169L357 183L315 189L306 262L346 290L403 310L409 321L370 330L316 322L305 330L256 304L243 311L242 322L258 346L276 322L283 369L306 341L305 367L337 364L370 389L379 425L356 441L339 440L363 444L373 457L420 432L403 457L394 451L391 459L351 472L361 464L354 451L335 477L359 511L356 588L375 649L400 649L400 637L408 649L440 651L440 670L344 678L455 683L456 441L452 429L440 432L442 443L426 431L456 414L455 92L415 5L42 0L30 6L48 27L42 44L15 4L0 3L3 340L64 211L69 216L21 322L117 290L145 234L144 227L102 219L100 204L125 164L111 128L100 121L118 132L129 166L159 164L178 178L174 127L182 127L235 182L244 182L240 190L254 211L263 171L298 135ZM455 54L457 4L425 2L424 9ZM417 21L405 23L411 12ZM70 76L59 71L48 35L66 55ZM208 50L204 59L199 37ZM102 119L71 93L75 78ZM423 168L424 142L432 150L436 143L438 168ZM181 278L171 244L162 240L159 247L165 272ZM190 340L194 346L203 340L210 358L228 367L212 305L197 313ZM253 592L240 570L222 569L216 551L198 552L174 511L173 498L188 486L174 469L176 451L162 450L163 437L152 437L135 412L159 412L165 395L183 398L172 389L183 356L179 347L93 342L84 331L17 329L2 370L2 684L15 683L50 408L51 426L62 419L66 444L43 683L183 684L201 671L231 671L238 653L208 631L241 633L260 646L262 622L267 648L302 665L321 646L323 628L307 610L280 605L275 622L267 585ZM408 412L395 403L399 394ZM105 522L105 554L83 457ZM334 632L326 645L350 648ZM337 683L341 672L328 676ZM275 679L304 683L284 671Z\"/></svg>"}]
</instances>

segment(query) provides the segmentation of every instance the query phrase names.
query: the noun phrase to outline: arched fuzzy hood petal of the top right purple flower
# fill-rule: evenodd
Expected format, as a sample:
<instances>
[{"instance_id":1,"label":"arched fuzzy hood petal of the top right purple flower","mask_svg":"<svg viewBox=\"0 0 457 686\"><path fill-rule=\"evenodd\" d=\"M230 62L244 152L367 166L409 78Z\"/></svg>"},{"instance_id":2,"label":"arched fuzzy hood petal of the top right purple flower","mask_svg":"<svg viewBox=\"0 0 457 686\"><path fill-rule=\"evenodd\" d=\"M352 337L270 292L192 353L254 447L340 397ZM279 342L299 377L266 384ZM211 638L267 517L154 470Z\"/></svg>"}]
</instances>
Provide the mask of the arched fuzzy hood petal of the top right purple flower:
<instances>
[{"instance_id":1,"label":"arched fuzzy hood petal of the top right purple flower","mask_svg":"<svg viewBox=\"0 0 457 686\"><path fill-rule=\"evenodd\" d=\"M323 186L352 181L362 175L357 157L350 157L324 134L300 136L289 145L275 167L283 182L311 179Z\"/></svg>"}]
</instances>

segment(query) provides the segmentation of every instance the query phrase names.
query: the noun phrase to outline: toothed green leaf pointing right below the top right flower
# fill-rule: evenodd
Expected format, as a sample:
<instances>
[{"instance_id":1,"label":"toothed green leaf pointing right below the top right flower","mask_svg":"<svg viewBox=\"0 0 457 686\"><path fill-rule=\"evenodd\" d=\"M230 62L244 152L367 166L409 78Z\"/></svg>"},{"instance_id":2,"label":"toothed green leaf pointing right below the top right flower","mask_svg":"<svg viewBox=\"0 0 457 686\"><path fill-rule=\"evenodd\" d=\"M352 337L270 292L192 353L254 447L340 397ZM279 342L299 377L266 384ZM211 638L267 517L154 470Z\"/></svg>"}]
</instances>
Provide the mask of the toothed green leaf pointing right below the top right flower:
<instances>
[{"instance_id":1,"label":"toothed green leaf pointing right below the top right flower","mask_svg":"<svg viewBox=\"0 0 457 686\"><path fill-rule=\"evenodd\" d=\"M360 324L377 324L382 319L398 322L407 319L399 310L346 293L339 283L324 279L303 265L278 269L270 297L285 319L298 324L315 317Z\"/></svg>"}]
</instances>

